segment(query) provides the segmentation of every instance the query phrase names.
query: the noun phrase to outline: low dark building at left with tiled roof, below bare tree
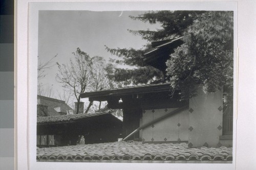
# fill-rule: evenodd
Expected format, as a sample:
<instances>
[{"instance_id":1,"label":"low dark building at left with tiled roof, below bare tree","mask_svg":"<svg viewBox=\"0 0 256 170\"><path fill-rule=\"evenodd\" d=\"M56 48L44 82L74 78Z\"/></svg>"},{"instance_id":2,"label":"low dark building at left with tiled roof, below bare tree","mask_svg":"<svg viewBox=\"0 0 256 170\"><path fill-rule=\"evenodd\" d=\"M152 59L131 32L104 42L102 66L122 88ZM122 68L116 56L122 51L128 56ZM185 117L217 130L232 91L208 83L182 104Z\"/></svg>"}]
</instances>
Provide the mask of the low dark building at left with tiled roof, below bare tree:
<instances>
[{"instance_id":1,"label":"low dark building at left with tiled roof, below bare tree","mask_svg":"<svg viewBox=\"0 0 256 170\"><path fill-rule=\"evenodd\" d=\"M110 112L37 117L37 147L113 142L120 138L122 121Z\"/></svg>"}]
</instances>

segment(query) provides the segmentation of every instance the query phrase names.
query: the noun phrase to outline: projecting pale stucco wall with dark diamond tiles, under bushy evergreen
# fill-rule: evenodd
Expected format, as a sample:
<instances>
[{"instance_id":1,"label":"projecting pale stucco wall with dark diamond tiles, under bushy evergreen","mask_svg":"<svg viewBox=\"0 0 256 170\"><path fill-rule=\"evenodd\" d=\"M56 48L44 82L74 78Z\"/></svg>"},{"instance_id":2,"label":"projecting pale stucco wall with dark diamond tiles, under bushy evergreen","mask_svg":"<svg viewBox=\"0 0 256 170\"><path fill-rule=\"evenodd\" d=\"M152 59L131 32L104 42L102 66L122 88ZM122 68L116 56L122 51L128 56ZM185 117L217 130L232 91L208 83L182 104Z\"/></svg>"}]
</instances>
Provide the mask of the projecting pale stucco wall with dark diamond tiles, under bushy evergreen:
<instances>
[{"instance_id":1,"label":"projecting pale stucco wall with dark diamond tiles, under bushy evergreen","mask_svg":"<svg viewBox=\"0 0 256 170\"><path fill-rule=\"evenodd\" d=\"M188 146L220 147L223 92L205 94L202 89L189 100Z\"/></svg>"}]
</instances>

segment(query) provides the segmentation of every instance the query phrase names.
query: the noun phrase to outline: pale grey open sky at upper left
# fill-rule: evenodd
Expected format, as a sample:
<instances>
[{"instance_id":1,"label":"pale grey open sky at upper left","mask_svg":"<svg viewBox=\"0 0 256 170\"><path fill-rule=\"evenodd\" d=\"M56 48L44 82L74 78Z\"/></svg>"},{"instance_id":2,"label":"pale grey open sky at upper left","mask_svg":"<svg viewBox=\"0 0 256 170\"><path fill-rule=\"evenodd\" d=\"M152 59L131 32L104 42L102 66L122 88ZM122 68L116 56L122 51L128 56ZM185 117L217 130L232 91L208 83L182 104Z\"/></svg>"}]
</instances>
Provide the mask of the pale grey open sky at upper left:
<instances>
[{"instance_id":1,"label":"pale grey open sky at upper left","mask_svg":"<svg viewBox=\"0 0 256 170\"><path fill-rule=\"evenodd\" d=\"M106 61L115 58L105 50L110 48L140 49L147 43L140 36L129 33L130 30L156 30L159 25L150 25L129 17L138 16L147 11L39 11L38 24L38 60L67 64L73 57L72 52L79 47L90 57L101 56ZM57 90L61 84L55 79L57 65L45 70L46 77L38 83L44 88L51 87L53 98L58 99ZM83 99L84 102L88 99Z\"/></svg>"}]
</instances>

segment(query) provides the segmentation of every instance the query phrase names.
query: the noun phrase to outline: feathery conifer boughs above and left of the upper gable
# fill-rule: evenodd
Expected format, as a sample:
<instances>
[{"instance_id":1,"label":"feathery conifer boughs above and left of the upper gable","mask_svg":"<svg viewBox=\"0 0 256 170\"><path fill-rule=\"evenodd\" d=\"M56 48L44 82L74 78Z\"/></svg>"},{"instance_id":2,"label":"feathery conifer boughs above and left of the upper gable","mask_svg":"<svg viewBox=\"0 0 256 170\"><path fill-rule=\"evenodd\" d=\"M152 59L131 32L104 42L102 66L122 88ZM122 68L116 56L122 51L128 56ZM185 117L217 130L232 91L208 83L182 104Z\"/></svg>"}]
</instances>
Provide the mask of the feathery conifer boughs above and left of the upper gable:
<instances>
[{"instance_id":1,"label":"feathery conifer boughs above and left of the upper gable","mask_svg":"<svg viewBox=\"0 0 256 170\"><path fill-rule=\"evenodd\" d=\"M129 32L134 35L140 35L148 42L174 38L181 36L184 30L193 23L195 18L204 12L205 11L153 11L137 17L130 16L132 19L149 22L151 24L157 22L161 23L162 29L157 31L129 30ZM120 58L119 60L112 59L112 62L135 67L116 69L112 76L113 80L122 85L165 82L166 80L164 79L162 71L144 62L145 57L143 54L151 49L152 46L150 44L146 44L140 50L135 50L134 48L109 48L106 46L108 52Z\"/></svg>"}]
</instances>

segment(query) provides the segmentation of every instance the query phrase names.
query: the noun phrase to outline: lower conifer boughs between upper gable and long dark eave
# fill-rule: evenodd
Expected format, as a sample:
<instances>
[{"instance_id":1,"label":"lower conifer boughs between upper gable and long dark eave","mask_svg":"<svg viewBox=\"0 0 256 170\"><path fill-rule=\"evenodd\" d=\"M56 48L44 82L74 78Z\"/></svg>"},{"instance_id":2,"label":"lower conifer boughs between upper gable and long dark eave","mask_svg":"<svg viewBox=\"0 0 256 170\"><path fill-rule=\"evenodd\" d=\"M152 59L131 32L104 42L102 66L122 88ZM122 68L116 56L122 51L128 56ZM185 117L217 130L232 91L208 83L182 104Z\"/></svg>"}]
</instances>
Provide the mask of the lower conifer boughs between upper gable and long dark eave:
<instances>
[{"instance_id":1,"label":"lower conifer boughs between upper gable and long dark eave","mask_svg":"<svg viewBox=\"0 0 256 170\"><path fill-rule=\"evenodd\" d=\"M151 48L151 45L145 45L143 50L135 50L134 48L115 49L106 46L108 52L122 59L111 59L111 62L132 66L132 68L115 68L110 78L117 84L119 83L119 86L163 82L164 76L162 71L144 62L143 54Z\"/></svg>"}]
</instances>

